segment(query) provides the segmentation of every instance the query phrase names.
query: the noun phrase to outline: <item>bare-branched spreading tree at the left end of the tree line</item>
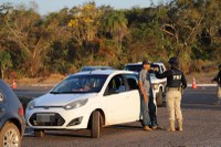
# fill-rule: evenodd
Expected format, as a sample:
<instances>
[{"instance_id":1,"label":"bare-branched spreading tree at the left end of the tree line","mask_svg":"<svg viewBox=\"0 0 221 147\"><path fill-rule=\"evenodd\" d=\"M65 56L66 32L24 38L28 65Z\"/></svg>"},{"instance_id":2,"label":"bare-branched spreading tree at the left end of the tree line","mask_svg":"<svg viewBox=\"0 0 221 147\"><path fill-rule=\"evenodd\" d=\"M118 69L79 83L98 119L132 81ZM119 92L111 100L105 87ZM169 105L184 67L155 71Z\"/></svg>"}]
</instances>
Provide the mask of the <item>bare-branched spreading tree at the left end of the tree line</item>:
<instances>
[{"instance_id":1,"label":"bare-branched spreading tree at the left end of the tree line","mask_svg":"<svg viewBox=\"0 0 221 147\"><path fill-rule=\"evenodd\" d=\"M32 9L25 10L21 7L8 14L6 27L8 42L17 44L17 49L21 50L21 55L25 59L22 72L28 76L35 76L43 66L42 59L53 41L51 38L53 25L42 23L40 14Z\"/></svg>"}]
</instances>

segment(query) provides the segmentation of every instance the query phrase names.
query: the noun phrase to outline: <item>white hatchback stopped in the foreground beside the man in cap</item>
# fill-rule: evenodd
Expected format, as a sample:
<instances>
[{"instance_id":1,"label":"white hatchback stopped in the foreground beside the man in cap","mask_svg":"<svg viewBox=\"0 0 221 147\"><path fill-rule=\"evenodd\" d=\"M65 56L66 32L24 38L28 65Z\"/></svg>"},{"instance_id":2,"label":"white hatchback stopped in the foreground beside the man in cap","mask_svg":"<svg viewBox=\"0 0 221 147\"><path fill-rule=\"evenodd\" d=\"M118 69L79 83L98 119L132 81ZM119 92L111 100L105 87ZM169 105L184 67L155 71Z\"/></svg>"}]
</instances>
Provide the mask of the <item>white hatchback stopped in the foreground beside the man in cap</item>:
<instances>
[{"instance_id":1,"label":"white hatchback stopped in the foreground beside the man in cap","mask_svg":"<svg viewBox=\"0 0 221 147\"><path fill-rule=\"evenodd\" d=\"M44 129L99 128L140 119L137 74L129 71L91 71L69 75L25 111L28 126L43 136Z\"/></svg>"}]
</instances>

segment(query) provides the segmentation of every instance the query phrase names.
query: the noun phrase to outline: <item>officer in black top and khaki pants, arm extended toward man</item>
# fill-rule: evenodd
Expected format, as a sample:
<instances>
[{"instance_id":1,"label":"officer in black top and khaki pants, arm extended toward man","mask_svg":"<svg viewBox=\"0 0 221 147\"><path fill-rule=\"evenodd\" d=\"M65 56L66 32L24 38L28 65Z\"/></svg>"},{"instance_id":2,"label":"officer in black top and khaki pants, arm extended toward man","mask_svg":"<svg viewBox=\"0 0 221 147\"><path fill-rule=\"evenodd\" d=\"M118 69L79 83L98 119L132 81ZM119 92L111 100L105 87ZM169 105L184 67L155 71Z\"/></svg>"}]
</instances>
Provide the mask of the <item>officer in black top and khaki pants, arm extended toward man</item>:
<instances>
[{"instance_id":1,"label":"officer in black top and khaki pants, arm extended toward man","mask_svg":"<svg viewBox=\"0 0 221 147\"><path fill-rule=\"evenodd\" d=\"M175 132L175 120L178 120L178 130L182 130L182 113L180 108L181 93L187 87L187 81L182 71L178 70L179 61L177 57L169 60L170 70L162 74L156 72L156 77L167 77L166 103L169 113L169 130Z\"/></svg>"}]
</instances>

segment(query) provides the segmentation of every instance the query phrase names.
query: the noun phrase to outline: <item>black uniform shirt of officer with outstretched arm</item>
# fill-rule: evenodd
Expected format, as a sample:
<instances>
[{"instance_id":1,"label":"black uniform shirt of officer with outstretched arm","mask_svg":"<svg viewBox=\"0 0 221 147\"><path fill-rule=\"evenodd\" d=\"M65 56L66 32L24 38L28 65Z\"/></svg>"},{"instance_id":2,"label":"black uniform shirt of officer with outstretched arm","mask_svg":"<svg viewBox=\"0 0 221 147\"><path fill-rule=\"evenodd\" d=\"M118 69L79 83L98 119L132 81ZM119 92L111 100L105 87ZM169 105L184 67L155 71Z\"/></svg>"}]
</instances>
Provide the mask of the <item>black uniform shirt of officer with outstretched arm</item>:
<instances>
[{"instance_id":1,"label":"black uniform shirt of officer with outstretched arm","mask_svg":"<svg viewBox=\"0 0 221 147\"><path fill-rule=\"evenodd\" d=\"M177 69L171 69L164 72L162 74L156 73L157 78L167 77L167 87L187 87L187 81L185 74Z\"/></svg>"}]
</instances>

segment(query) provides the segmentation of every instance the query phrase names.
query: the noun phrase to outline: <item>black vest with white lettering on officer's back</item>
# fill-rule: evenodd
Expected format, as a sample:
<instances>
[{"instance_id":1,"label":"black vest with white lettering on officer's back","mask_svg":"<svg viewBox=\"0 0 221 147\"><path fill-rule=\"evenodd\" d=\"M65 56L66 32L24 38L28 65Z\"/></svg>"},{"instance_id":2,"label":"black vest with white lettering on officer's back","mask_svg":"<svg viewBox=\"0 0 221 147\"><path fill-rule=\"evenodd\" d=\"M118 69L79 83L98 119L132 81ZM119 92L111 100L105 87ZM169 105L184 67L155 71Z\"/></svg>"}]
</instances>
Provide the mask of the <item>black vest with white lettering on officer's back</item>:
<instances>
[{"instance_id":1,"label":"black vest with white lettering on officer's back","mask_svg":"<svg viewBox=\"0 0 221 147\"><path fill-rule=\"evenodd\" d=\"M171 77L167 78L167 86L168 87L180 87L182 72L179 70L170 70L170 71L171 71Z\"/></svg>"}]
</instances>

